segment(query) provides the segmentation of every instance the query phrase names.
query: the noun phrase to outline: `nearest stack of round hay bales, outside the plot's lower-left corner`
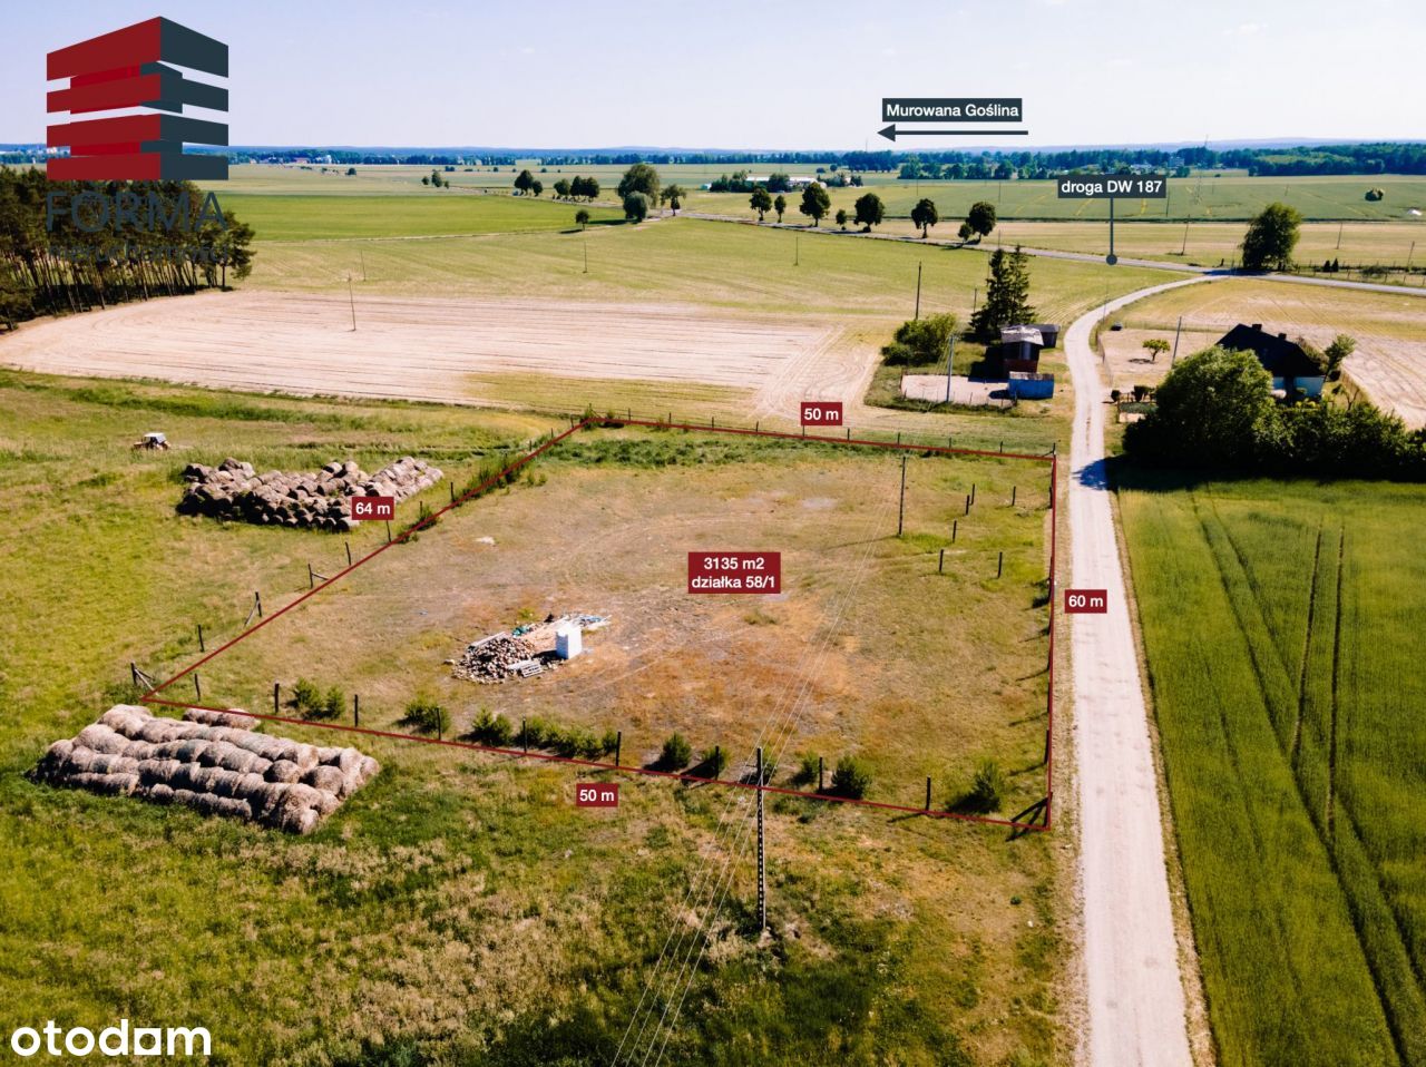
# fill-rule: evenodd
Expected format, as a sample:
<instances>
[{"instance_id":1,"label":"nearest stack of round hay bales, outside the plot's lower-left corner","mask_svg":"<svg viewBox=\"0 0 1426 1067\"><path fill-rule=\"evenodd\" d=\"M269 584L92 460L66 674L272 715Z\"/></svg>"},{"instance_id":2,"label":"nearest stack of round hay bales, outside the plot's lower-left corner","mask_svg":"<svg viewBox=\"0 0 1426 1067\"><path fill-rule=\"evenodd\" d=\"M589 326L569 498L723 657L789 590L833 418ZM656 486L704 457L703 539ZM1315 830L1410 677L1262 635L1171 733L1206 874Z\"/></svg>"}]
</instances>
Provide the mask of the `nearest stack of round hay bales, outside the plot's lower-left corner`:
<instances>
[{"instance_id":1,"label":"nearest stack of round hay bales, outside the plot's lower-left corner","mask_svg":"<svg viewBox=\"0 0 1426 1067\"><path fill-rule=\"evenodd\" d=\"M178 722L116 705L78 736L54 742L34 776L311 833L381 770L356 749L254 733L241 725L254 720L241 715L188 715Z\"/></svg>"}]
</instances>

